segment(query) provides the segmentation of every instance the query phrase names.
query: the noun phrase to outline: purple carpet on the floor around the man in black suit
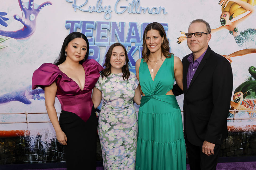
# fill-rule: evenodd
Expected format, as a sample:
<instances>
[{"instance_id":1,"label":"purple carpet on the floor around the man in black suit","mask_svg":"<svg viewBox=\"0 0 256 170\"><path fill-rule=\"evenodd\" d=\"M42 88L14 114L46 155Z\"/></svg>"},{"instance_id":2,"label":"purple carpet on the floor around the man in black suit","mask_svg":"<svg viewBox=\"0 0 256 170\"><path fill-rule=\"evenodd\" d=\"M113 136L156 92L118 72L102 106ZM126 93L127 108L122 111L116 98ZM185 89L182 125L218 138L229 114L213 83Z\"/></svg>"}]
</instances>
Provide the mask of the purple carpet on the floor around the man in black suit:
<instances>
[{"instance_id":1,"label":"purple carpet on the floor around the man in black suit","mask_svg":"<svg viewBox=\"0 0 256 170\"><path fill-rule=\"evenodd\" d=\"M217 170L255 170L256 162L225 162L218 163ZM190 170L189 164L187 164L187 170Z\"/></svg>"}]
</instances>

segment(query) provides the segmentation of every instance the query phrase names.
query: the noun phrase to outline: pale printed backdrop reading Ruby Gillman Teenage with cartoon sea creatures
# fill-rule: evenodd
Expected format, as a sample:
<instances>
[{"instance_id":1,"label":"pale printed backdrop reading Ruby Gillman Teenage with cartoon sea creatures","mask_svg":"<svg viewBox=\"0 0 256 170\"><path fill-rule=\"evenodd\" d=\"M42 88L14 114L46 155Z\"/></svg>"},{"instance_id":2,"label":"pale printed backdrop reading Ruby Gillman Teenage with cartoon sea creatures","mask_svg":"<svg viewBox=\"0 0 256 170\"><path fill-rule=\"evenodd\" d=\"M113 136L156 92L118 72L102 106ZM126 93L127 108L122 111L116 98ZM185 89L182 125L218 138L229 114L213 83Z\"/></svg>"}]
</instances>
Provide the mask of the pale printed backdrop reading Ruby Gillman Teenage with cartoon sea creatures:
<instances>
[{"instance_id":1,"label":"pale printed backdrop reading Ruby Gillman Teenage with cartoon sea creatures","mask_svg":"<svg viewBox=\"0 0 256 170\"><path fill-rule=\"evenodd\" d=\"M243 1L256 9L254 0ZM215 29L209 46L232 61L234 96L230 98L230 107L247 111L229 113L229 130L256 131L256 112L250 111L256 103L256 14L230 1L228 11L234 13L230 22L236 25L230 31L221 27L223 6L218 3L217 0L1 0L0 137L40 134L40 140L46 144L55 138L46 114L43 90L32 90L31 79L42 63L54 62L69 33L84 33L90 42L89 58L101 65L109 46L122 43L128 52L130 70L135 73L135 62L142 57L142 35L147 24L161 23L170 51L182 59L191 51L186 40L181 42L178 38L184 36L183 32L187 32L194 19L204 19ZM245 13L241 14L242 10ZM248 18L242 18L247 15ZM236 22L240 18L241 22ZM183 96L177 100L183 110ZM57 98L55 107L57 112L61 111Z\"/></svg>"}]
</instances>

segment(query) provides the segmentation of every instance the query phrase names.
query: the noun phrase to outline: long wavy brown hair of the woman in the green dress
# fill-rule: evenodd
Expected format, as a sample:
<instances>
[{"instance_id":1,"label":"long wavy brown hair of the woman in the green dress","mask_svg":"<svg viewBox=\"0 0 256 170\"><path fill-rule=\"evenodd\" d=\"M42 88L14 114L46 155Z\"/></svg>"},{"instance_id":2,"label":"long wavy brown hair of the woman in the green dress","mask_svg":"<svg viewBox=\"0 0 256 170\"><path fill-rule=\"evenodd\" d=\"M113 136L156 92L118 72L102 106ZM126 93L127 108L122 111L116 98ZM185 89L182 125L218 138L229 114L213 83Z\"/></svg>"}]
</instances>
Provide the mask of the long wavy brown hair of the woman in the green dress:
<instances>
[{"instance_id":1,"label":"long wavy brown hair of the woman in the green dress","mask_svg":"<svg viewBox=\"0 0 256 170\"><path fill-rule=\"evenodd\" d=\"M146 37L147 37L147 32L150 31L151 29L157 30L159 32L160 36L163 38L163 43L161 45L162 54L166 58L170 58L171 54L173 54L173 53L169 52L169 50L170 50L169 41L166 38L165 29L158 22L153 22L153 23L150 23L147 25L147 27L145 28L144 33L143 33L142 56L143 56L144 61L147 62L149 60L150 51L146 45Z\"/></svg>"}]
</instances>

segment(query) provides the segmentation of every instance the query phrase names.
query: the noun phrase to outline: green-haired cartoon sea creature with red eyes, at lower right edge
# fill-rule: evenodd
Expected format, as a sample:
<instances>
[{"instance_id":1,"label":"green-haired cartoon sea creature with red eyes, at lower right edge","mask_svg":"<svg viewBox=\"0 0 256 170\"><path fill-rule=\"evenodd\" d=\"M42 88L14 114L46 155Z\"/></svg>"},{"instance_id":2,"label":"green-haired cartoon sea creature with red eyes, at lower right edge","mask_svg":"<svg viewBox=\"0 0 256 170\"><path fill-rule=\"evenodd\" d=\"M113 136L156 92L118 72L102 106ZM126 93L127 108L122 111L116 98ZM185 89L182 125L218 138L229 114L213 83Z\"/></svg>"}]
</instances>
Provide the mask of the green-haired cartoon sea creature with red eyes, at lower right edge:
<instances>
[{"instance_id":1,"label":"green-haired cartoon sea creature with red eyes, at lower right edge","mask_svg":"<svg viewBox=\"0 0 256 170\"><path fill-rule=\"evenodd\" d=\"M256 67L249 67L249 73L256 78ZM234 91L233 101L230 101L231 110L254 110L256 109L256 80L249 80L240 84ZM246 99L249 98L249 99ZM249 117L255 116L255 111L245 111L249 113ZM235 114L234 111L230 112ZM236 112L237 113L237 112Z\"/></svg>"}]
</instances>

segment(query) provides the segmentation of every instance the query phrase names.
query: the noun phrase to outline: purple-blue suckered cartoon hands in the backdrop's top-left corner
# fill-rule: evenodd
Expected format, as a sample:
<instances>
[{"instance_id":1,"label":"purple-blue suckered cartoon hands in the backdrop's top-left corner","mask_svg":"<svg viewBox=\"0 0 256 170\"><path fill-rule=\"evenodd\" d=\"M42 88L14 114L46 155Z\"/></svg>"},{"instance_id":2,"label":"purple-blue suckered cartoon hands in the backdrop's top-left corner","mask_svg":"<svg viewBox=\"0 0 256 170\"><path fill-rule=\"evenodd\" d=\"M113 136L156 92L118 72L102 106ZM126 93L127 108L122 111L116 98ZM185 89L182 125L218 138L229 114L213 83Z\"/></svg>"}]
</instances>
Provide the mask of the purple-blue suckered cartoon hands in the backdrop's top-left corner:
<instances>
[{"instance_id":1,"label":"purple-blue suckered cartoon hands in the backdrop's top-left corner","mask_svg":"<svg viewBox=\"0 0 256 170\"><path fill-rule=\"evenodd\" d=\"M24 0L18 0L18 1L19 1L19 7L21 8L21 11L22 11L22 16L14 15L13 17L15 20L21 22L24 25L24 27L17 31L3 31L0 29L0 35L2 36L11 37L14 39L24 39L31 36L35 32L36 21L37 21L37 16L39 12L42 10L43 7L52 5L52 3L49 1L44 2L41 5L35 4L34 0L29 0L29 2L23 2ZM5 13L4 14L0 13L0 15L1 14L4 15ZM5 24L1 22L1 20L0 20L0 23L7 26L7 23Z\"/></svg>"}]
</instances>

